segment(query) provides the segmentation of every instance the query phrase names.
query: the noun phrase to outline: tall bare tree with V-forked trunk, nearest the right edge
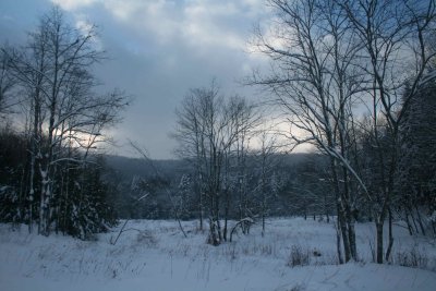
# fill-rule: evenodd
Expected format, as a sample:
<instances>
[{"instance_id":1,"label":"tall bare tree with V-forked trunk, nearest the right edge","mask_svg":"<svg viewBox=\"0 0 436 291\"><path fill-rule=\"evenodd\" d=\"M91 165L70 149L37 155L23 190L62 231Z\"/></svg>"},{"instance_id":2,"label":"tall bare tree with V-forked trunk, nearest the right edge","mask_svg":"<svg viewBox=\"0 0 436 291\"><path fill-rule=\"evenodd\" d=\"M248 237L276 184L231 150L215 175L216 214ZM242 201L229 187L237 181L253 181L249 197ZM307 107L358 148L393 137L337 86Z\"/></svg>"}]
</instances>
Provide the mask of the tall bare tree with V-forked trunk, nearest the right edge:
<instances>
[{"instance_id":1,"label":"tall bare tree with V-forked trunk, nearest the right edge","mask_svg":"<svg viewBox=\"0 0 436 291\"><path fill-rule=\"evenodd\" d=\"M436 2L356 0L338 3L344 9L350 27L363 45L360 58L366 62L360 69L371 84L365 96L368 97L371 136L378 168L376 177L371 179L378 180L379 186L371 193L370 201L377 229L376 260L383 263L383 227L391 213L399 128L412 97L434 78L434 73L428 73L427 69L435 56L434 50L428 50L428 41L436 24ZM383 143L387 143L390 150L386 151ZM389 227L385 259L389 259L393 244L391 223Z\"/></svg>"}]
</instances>

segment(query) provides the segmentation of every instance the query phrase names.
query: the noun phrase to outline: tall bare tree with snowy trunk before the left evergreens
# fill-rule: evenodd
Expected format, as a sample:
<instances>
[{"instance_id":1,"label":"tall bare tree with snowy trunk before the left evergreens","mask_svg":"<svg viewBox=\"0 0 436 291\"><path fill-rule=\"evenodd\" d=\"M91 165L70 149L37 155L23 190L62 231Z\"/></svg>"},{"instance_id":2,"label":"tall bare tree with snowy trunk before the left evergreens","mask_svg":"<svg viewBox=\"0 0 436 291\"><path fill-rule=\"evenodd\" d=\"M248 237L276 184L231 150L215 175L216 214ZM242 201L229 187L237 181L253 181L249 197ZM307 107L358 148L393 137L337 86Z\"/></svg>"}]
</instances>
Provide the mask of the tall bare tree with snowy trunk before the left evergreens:
<instances>
[{"instance_id":1,"label":"tall bare tree with snowy trunk before the left evergreens","mask_svg":"<svg viewBox=\"0 0 436 291\"><path fill-rule=\"evenodd\" d=\"M104 130L119 120L119 110L128 104L122 92L93 92L97 82L89 68L104 57L95 38L94 26L87 31L71 27L61 10L53 8L29 34L27 46L9 54L13 75L28 97L28 199L32 204L39 189L38 232L45 235L52 221L52 198L59 195L53 187L59 165L69 161L84 167L89 150L104 141ZM65 148L70 154L65 155ZM72 155L72 148L81 148L83 155Z\"/></svg>"}]
</instances>

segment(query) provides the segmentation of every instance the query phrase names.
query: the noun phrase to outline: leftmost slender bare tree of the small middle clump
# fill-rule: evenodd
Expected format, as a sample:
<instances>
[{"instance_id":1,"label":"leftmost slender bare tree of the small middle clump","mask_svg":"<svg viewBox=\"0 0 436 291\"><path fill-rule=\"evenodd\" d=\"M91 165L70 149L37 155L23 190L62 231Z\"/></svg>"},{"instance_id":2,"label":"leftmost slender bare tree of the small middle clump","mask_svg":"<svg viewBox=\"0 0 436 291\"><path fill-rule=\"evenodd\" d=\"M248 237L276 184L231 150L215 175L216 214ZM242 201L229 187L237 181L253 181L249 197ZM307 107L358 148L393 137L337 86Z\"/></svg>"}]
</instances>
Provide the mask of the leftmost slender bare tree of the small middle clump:
<instances>
[{"instance_id":1,"label":"leftmost slender bare tree of the small middle clump","mask_svg":"<svg viewBox=\"0 0 436 291\"><path fill-rule=\"evenodd\" d=\"M221 230L219 205L221 192L221 167L223 161L226 117L223 98L213 83L210 88L192 89L182 107L177 111L178 128L174 137L183 157L194 162L199 195L201 226L203 225L203 204L207 199L209 210L209 240L219 244Z\"/></svg>"}]
</instances>

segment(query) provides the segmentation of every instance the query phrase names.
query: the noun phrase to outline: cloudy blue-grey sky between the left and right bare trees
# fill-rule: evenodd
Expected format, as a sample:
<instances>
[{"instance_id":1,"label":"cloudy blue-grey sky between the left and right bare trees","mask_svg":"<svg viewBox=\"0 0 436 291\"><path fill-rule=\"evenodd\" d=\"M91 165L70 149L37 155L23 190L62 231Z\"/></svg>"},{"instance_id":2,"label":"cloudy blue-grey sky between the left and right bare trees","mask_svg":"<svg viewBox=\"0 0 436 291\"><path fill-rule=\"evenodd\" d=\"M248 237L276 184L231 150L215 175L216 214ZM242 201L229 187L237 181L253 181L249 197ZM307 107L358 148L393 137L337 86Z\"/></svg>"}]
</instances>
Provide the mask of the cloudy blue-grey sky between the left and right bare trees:
<instances>
[{"instance_id":1,"label":"cloudy blue-grey sky between the left and right bare trees","mask_svg":"<svg viewBox=\"0 0 436 291\"><path fill-rule=\"evenodd\" d=\"M96 69L109 89L134 97L112 135L130 155L126 140L153 158L172 158L174 109L193 87L216 77L226 95L257 99L238 82L266 64L249 53L253 26L270 15L264 0L1 0L0 40L21 44L52 3L75 25L99 27L99 45L110 60Z\"/></svg>"}]
</instances>

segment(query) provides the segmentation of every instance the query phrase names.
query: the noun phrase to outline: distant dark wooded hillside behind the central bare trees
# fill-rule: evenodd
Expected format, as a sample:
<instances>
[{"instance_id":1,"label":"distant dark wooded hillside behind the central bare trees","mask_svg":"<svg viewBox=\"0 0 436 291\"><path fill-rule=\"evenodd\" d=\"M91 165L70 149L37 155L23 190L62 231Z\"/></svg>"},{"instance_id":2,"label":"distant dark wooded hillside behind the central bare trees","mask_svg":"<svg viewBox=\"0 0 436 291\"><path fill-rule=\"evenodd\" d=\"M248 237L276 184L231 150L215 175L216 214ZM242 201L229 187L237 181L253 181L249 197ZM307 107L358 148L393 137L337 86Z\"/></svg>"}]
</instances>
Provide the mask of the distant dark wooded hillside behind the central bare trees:
<instances>
[{"instance_id":1,"label":"distant dark wooded hillside behind the central bare trees","mask_svg":"<svg viewBox=\"0 0 436 291\"><path fill-rule=\"evenodd\" d=\"M330 219L335 214L328 183L318 183L325 177L325 158L317 154L275 154L278 161L271 179L271 191L263 199L258 191L258 157L247 155L246 217L261 220L266 217L316 216ZM199 197L195 192L197 180L189 160L154 160L159 175L148 161L117 156L106 156L109 168L104 172L105 183L116 190L112 197L117 215L123 219L198 219ZM138 201L146 195L145 198ZM326 199L324 199L326 197ZM171 203L170 198L173 201ZM228 218L241 219L240 196L232 194ZM203 209L208 214L208 207ZM223 217L223 216L222 216ZM199 226L198 226L199 227Z\"/></svg>"}]
</instances>

